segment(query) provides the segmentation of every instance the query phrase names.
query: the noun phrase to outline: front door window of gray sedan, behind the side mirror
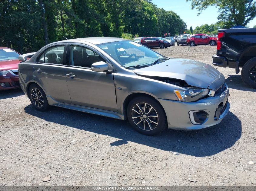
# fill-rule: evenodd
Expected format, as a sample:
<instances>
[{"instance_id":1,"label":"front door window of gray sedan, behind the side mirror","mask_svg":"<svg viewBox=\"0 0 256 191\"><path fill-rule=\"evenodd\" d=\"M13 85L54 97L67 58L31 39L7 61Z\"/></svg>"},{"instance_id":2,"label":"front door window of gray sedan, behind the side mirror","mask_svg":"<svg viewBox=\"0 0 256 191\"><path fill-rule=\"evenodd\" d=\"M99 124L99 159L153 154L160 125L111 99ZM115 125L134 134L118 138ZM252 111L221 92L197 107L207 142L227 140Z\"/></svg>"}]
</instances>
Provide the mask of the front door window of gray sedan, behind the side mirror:
<instances>
[{"instance_id":1,"label":"front door window of gray sedan, behind the side mirror","mask_svg":"<svg viewBox=\"0 0 256 191\"><path fill-rule=\"evenodd\" d=\"M89 48L77 45L70 46L70 65L91 68L95 62L105 60Z\"/></svg>"}]
</instances>

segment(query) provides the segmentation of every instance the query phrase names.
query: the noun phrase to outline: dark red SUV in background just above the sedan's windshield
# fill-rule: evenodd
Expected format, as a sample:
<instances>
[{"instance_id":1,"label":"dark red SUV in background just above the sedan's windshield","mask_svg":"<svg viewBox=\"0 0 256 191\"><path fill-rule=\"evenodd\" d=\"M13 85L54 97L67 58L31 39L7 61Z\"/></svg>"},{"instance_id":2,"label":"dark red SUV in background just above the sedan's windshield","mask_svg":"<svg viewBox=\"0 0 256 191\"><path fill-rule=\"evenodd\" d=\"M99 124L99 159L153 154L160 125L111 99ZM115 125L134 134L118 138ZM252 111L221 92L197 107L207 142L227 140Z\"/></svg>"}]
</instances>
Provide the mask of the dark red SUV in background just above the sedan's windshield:
<instances>
[{"instance_id":1,"label":"dark red SUV in background just above the sedan's windshield","mask_svg":"<svg viewBox=\"0 0 256 191\"><path fill-rule=\"evenodd\" d=\"M167 40L165 40L161 37L143 38L143 39L141 39L141 44L143 44L144 46L147 46L149 48L153 48L153 47L167 48L167 47L171 46Z\"/></svg>"}]
</instances>

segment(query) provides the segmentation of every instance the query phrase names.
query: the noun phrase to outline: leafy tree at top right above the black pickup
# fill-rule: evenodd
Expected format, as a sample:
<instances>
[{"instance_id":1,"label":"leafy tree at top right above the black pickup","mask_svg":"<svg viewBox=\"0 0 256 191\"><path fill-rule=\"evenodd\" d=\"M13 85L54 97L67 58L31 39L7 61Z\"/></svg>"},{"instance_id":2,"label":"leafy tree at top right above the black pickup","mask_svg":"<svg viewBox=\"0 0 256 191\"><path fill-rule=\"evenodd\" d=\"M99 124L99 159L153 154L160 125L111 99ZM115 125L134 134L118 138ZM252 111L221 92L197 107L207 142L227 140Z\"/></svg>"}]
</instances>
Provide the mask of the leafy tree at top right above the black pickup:
<instances>
[{"instance_id":1,"label":"leafy tree at top right above the black pickup","mask_svg":"<svg viewBox=\"0 0 256 191\"><path fill-rule=\"evenodd\" d=\"M196 8L198 14L209 6L218 7L218 19L226 27L233 25L246 26L256 16L256 2L254 0L186 0L191 1L192 9Z\"/></svg>"}]
</instances>

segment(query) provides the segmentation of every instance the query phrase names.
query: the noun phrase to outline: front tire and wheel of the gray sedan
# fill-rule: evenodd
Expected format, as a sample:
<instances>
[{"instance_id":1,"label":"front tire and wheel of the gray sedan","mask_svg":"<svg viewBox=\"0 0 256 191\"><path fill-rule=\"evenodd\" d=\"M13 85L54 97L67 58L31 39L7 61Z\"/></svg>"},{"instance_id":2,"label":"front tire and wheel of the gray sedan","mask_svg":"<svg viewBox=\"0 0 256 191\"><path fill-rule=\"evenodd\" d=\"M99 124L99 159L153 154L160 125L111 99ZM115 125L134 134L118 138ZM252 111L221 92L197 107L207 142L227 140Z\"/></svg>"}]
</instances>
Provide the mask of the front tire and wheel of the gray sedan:
<instances>
[{"instance_id":1,"label":"front tire and wheel of the gray sedan","mask_svg":"<svg viewBox=\"0 0 256 191\"><path fill-rule=\"evenodd\" d=\"M131 100L127 107L127 118L131 126L144 135L157 135L167 127L164 109L150 97L141 96Z\"/></svg>"}]
</instances>

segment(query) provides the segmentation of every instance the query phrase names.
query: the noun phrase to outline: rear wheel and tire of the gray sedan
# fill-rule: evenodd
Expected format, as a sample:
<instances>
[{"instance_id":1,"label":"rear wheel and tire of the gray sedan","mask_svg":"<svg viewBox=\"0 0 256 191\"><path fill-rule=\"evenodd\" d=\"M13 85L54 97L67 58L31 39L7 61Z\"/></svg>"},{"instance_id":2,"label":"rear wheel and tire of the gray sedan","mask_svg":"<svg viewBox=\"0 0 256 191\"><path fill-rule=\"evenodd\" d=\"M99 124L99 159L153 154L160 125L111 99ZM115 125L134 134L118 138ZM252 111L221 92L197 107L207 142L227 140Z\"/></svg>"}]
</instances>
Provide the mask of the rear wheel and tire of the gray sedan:
<instances>
[{"instance_id":1,"label":"rear wheel and tire of the gray sedan","mask_svg":"<svg viewBox=\"0 0 256 191\"><path fill-rule=\"evenodd\" d=\"M38 84L32 84L28 89L32 106L38 111L46 111L49 107L45 92Z\"/></svg>"}]
</instances>

